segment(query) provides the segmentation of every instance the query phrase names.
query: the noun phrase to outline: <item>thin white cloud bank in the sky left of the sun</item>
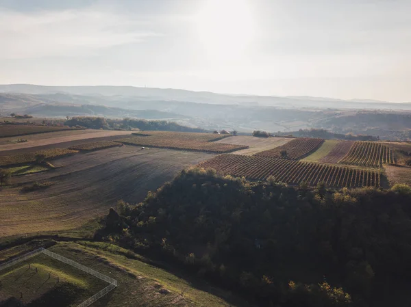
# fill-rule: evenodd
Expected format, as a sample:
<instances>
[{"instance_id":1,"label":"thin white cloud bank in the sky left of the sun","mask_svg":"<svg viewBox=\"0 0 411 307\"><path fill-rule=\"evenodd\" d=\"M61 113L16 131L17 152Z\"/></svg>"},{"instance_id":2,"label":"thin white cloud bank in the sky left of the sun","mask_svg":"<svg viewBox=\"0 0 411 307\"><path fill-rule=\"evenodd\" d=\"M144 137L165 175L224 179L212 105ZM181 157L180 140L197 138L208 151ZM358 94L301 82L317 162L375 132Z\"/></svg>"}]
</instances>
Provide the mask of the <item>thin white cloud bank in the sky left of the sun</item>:
<instances>
[{"instance_id":1,"label":"thin white cloud bank in the sky left of the sun","mask_svg":"<svg viewBox=\"0 0 411 307\"><path fill-rule=\"evenodd\" d=\"M82 56L160 34L147 22L95 10L14 12L0 8L0 59Z\"/></svg>"}]
</instances>

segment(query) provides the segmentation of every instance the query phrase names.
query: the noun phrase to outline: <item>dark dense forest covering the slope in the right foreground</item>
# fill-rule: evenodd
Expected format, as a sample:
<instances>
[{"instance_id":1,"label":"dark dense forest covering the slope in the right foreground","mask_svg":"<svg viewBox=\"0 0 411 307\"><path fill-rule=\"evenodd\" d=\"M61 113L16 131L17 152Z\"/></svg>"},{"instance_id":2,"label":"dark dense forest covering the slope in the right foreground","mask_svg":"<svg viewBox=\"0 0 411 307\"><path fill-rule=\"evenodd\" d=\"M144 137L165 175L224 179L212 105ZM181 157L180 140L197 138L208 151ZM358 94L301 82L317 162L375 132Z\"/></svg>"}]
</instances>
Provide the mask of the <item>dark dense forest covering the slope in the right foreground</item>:
<instances>
[{"instance_id":1,"label":"dark dense forest covering the slope in the right foreground","mask_svg":"<svg viewBox=\"0 0 411 307\"><path fill-rule=\"evenodd\" d=\"M410 204L404 185L293 188L193 168L140 204L119 202L95 236L259 306L402 306L410 302Z\"/></svg>"}]
</instances>

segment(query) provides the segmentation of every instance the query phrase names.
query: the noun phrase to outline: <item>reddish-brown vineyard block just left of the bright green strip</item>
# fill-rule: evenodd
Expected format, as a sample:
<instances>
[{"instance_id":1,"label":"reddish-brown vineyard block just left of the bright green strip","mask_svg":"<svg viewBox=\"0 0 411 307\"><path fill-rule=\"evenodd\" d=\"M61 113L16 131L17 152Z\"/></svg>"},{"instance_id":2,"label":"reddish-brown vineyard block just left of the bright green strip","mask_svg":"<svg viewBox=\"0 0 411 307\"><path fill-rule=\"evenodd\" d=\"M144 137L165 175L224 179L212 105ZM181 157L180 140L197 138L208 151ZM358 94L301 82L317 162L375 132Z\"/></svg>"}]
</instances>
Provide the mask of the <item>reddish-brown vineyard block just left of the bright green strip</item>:
<instances>
[{"instance_id":1,"label":"reddish-brown vineyard block just left of the bright green strip","mask_svg":"<svg viewBox=\"0 0 411 307\"><path fill-rule=\"evenodd\" d=\"M258 152L256 156L299 160L310 155L319 148L323 142L324 139L297 137L282 146Z\"/></svg>"}]
</instances>

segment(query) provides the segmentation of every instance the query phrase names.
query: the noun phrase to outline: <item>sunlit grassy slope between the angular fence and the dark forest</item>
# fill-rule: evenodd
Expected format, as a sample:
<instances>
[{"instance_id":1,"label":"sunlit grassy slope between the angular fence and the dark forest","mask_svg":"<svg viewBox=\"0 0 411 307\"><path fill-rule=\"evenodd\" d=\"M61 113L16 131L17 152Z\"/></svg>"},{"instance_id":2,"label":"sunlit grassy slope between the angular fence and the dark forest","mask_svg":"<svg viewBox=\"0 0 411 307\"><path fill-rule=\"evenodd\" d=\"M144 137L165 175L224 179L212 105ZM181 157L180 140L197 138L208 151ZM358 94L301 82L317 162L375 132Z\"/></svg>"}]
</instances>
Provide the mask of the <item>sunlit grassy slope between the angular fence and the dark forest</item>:
<instances>
[{"instance_id":1,"label":"sunlit grassy slope between the angular fence and the dark forest","mask_svg":"<svg viewBox=\"0 0 411 307\"><path fill-rule=\"evenodd\" d=\"M119 286L92 304L93 307L136 306L136 302L138 306L147 307L249 306L228 291L212 287L199 278L190 278L181 271L178 276L174 275L173 268L160 269L142 256L110 243L58 242L48 250L117 280ZM230 303L232 301L235 304Z\"/></svg>"}]
</instances>

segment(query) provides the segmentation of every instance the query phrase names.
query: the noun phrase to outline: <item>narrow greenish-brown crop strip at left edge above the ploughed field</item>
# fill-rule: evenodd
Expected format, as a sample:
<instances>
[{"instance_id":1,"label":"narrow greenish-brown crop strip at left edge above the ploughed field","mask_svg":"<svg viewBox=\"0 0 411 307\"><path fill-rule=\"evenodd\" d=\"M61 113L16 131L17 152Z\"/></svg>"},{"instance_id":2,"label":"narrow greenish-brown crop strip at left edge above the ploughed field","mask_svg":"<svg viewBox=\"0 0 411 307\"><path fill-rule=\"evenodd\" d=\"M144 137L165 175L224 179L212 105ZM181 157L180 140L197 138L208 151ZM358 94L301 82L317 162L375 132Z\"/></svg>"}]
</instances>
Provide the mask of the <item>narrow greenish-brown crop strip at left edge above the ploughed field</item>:
<instances>
[{"instance_id":1,"label":"narrow greenish-brown crop strip at left edge above the ploughed field","mask_svg":"<svg viewBox=\"0 0 411 307\"><path fill-rule=\"evenodd\" d=\"M0 166L19 165L35 162L37 159L53 159L65 155L71 155L78 152L77 150L54 148L47 150L39 150L36 152L27 152L19 155L0 157Z\"/></svg>"}]
</instances>

